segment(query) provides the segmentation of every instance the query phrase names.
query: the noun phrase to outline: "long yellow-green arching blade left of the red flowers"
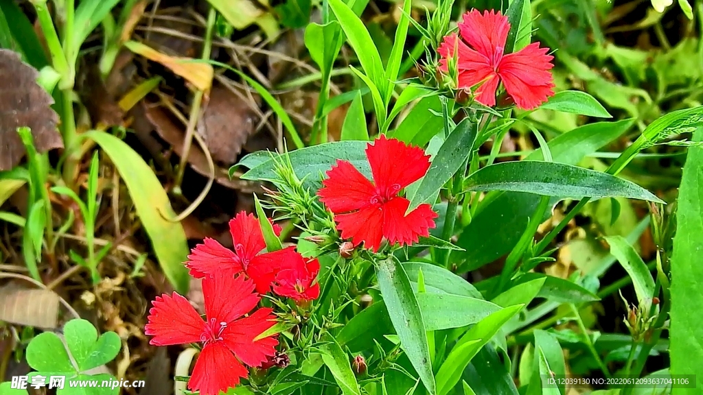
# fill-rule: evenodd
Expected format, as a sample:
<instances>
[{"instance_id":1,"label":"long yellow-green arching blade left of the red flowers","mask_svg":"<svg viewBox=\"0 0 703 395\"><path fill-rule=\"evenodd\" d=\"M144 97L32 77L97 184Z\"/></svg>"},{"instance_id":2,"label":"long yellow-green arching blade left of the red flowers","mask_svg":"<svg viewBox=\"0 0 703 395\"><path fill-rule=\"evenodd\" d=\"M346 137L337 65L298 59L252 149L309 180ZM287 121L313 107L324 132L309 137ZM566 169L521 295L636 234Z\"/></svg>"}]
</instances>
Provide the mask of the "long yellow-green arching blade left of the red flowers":
<instances>
[{"instance_id":1,"label":"long yellow-green arching blade left of the red flowers","mask_svg":"<svg viewBox=\"0 0 703 395\"><path fill-rule=\"evenodd\" d=\"M189 251L186 232L180 223L165 218L175 214L159 179L142 157L119 138L103 131L89 131L84 136L98 143L115 164L162 270L176 291L186 294L190 285L188 269L183 266ZM146 190L149 193L144 193Z\"/></svg>"}]
</instances>

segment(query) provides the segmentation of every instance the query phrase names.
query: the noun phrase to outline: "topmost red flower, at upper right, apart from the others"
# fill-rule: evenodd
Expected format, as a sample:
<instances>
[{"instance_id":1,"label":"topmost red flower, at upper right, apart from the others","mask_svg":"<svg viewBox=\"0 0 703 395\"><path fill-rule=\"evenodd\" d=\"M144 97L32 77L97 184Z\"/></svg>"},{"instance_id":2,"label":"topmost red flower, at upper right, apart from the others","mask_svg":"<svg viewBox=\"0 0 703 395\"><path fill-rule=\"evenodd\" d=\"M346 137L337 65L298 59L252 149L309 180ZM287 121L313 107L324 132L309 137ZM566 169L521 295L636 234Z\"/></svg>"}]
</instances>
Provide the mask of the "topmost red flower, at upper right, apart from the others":
<instances>
[{"instance_id":1,"label":"topmost red flower, at upper right, apart from the others","mask_svg":"<svg viewBox=\"0 0 703 395\"><path fill-rule=\"evenodd\" d=\"M464 14L459 24L461 39L456 34L444 37L437 52L442 56L439 70L448 71L447 60L458 51L459 88L471 88L481 84L476 94L479 103L489 107L496 105L496 89L503 82L505 91L524 110L537 108L554 94L552 73L553 56L548 48L532 43L515 53L503 54L508 39L510 23L501 12L478 10ZM467 45L468 44L468 45Z\"/></svg>"}]
</instances>

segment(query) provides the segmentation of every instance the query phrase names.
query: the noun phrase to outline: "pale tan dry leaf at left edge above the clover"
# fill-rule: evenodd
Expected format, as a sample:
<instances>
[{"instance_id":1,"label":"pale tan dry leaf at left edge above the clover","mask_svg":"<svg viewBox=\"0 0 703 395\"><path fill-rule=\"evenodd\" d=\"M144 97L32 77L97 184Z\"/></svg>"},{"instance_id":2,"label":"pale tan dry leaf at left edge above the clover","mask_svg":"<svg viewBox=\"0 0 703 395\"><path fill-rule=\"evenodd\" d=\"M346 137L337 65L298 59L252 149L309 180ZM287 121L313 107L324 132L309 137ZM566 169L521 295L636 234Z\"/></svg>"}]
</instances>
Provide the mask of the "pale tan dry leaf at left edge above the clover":
<instances>
[{"instance_id":1,"label":"pale tan dry leaf at left edge above the clover","mask_svg":"<svg viewBox=\"0 0 703 395\"><path fill-rule=\"evenodd\" d=\"M58 327L58 295L13 283L0 287L0 321L37 328Z\"/></svg>"}]
</instances>

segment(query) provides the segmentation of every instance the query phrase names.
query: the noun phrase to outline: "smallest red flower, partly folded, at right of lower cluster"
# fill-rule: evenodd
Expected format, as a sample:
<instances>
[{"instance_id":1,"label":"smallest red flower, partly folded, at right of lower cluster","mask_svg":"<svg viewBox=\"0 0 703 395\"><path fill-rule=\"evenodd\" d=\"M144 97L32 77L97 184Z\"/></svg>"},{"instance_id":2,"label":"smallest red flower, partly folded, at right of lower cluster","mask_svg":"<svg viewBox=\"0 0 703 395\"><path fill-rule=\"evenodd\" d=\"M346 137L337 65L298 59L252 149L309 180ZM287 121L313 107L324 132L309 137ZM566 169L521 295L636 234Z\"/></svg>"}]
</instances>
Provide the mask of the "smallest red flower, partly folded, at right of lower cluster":
<instances>
[{"instance_id":1,"label":"smallest red flower, partly folded, at right of lower cluster","mask_svg":"<svg viewBox=\"0 0 703 395\"><path fill-rule=\"evenodd\" d=\"M316 258L306 260L301 254L296 255L296 259L290 262L291 266L276 275L273 292L282 297L290 297L295 302L317 299L320 296L320 284L312 283L320 272L320 262Z\"/></svg>"}]
</instances>

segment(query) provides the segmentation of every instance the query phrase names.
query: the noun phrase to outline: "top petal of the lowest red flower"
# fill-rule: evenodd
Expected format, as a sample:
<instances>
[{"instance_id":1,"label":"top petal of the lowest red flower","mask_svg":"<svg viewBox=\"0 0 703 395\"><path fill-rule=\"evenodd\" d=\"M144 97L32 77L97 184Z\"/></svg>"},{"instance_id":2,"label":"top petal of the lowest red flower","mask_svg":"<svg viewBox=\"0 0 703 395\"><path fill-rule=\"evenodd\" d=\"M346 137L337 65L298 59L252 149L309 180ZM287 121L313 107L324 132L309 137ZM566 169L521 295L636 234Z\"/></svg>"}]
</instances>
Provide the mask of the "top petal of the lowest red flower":
<instances>
[{"instance_id":1,"label":"top petal of the lowest red flower","mask_svg":"<svg viewBox=\"0 0 703 395\"><path fill-rule=\"evenodd\" d=\"M252 311L259 303L259 295L253 293L254 283L237 277L214 276L202 280L202 298L205 299L205 316L218 323L231 323Z\"/></svg>"}]
</instances>

